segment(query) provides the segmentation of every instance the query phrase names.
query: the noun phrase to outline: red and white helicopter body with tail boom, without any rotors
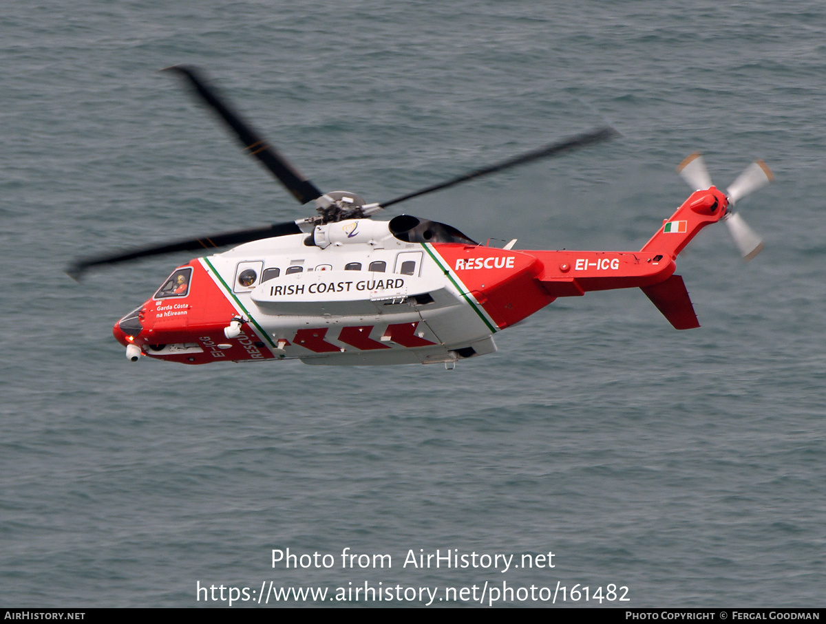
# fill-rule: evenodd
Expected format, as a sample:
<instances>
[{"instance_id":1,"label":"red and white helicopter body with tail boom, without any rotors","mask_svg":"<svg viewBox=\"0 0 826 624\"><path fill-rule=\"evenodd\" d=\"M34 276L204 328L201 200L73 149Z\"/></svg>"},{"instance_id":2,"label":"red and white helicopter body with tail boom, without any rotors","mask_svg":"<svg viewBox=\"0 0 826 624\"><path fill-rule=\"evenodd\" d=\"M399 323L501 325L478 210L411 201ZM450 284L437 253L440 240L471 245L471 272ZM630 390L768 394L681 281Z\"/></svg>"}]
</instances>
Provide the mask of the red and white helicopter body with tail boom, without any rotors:
<instances>
[{"instance_id":1,"label":"red and white helicopter body with tail boom, without any rotors","mask_svg":"<svg viewBox=\"0 0 826 624\"><path fill-rule=\"evenodd\" d=\"M668 280L721 202L695 192L638 252L492 248L408 215L329 223L178 267L113 333L130 359L449 364L496 351L495 333L557 297L628 287L689 329L685 287Z\"/></svg>"}]
</instances>

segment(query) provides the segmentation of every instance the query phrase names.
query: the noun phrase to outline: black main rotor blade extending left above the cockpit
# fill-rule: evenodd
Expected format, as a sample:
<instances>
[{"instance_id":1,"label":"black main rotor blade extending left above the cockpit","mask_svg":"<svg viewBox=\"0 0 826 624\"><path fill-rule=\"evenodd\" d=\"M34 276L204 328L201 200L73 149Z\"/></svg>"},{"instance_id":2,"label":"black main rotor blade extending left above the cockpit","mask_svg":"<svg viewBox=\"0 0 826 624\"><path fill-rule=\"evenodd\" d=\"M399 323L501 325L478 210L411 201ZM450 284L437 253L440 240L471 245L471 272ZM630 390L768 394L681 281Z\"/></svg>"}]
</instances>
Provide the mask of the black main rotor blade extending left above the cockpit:
<instances>
[{"instance_id":1,"label":"black main rotor blade extending left above the cockpit","mask_svg":"<svg viewBox=\"0 0 826 624\"><path fill-rule=\"evenodd\" d=\"M126 262L127 260L135 260L136 258L159 256L164 253L225 247L225 245L249 243L253 240L269 239L275 236L287 236L289 234L301 234L301 228L296 221L275 223L261 228L239 229L235 232L224 232L222 234L204 236L200 239L161 243L152 245L151 247L135 248L131 251L112 253L95 258L80 258L72 262L69 267L66 268L66 272L69 273L69 277L77 281L89 267L97 267L102 264L116 264L118 262Z\"/></svg>"}]
</instances>

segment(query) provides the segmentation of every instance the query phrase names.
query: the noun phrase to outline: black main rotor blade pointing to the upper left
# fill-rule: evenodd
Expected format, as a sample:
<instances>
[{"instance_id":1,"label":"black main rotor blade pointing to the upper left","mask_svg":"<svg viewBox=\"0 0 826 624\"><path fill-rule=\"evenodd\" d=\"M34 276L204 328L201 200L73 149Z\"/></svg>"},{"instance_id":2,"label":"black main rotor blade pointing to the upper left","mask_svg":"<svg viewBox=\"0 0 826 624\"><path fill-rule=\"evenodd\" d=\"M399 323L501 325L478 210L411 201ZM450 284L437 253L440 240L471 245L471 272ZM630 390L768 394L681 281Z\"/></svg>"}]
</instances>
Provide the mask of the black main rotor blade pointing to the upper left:
<instances>
[{"instance_id":1,"label":"black main rotor blade pointing to the upper left","mask_svg":"<svg viewBox=\"0 0 826 624\"><path fill-rule=\"evenodd\" d=\"M293 167L292 163L284 158L272 144L263 139L249 123L226 105L218 96L215 87L206 83L198 69L190 65L173 65L162 71L172 71L186 78L202 100L207 102L235 132L244 146L244 151L258 158L298 201L306 204L321 196L321 191L303 173Z\"/></svg>"}]
</instances>

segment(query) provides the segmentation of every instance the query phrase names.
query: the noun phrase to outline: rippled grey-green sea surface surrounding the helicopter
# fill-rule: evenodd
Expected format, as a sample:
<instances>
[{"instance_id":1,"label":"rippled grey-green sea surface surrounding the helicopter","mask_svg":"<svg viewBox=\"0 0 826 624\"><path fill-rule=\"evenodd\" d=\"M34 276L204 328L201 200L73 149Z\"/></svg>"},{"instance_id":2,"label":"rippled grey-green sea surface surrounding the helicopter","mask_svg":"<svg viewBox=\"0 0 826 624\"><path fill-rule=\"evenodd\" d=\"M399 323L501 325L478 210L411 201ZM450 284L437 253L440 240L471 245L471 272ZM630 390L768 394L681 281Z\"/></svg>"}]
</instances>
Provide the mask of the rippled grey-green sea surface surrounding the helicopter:
<instances>
[{"instance_id":1,"label":"rippled grey-green sea surface surrounding the helicopter","mask_svg":"<svg viewBox=\"0 0 826 624\"><path fill-rule=\"evenodd\" d=\"M823 606L826 17L722 4L5 2L0 606L203 606L198 582L270 580ZM615 125L399 206L518 248L639 248L688 195L687 154L720 187L764 158L776 182L738 207L767 249L744 264L722 226L695 240L688 332L615 291L454 371L131 364L112 324L187 254L79 285L69 259L310 210L156 73L177 63L368 201ZM273 569L287 547L335 567ZM345 547L392 568L342 570ZM555 568L402 567L410 549Z\"/></svg>"}]
</instances>

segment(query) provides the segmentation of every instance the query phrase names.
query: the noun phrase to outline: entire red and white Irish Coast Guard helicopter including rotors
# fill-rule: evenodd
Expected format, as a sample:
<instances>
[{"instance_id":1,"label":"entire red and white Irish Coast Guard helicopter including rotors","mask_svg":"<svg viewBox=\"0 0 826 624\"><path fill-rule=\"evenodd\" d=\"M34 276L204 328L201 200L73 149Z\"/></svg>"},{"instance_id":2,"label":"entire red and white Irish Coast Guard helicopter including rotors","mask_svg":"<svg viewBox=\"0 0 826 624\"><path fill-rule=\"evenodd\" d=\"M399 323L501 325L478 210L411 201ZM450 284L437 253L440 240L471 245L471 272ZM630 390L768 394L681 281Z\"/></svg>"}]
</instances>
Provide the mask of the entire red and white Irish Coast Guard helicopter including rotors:
<instances>
[{"instance_id":1,"label":"entire red and white Irish Coast Guard helicopter including rotors","mask_svg":"<svg viewBox=\"0 0 826 624\"><path fill-rule=\"evenodd\" d=\"M137 258L230 249L174 269L112 333L131 362L141 357L207 364L294 360L318 365L444 363L496 352L494 335L558 297L640 288L675 329L700 327L677 255L700 229L724 221L744 259L762 240L734 204L771 182L752 163L726 192L712 185L700 154L678 171L694 191L638 251L517 250L480 244L454 228L413 215L373 215L477 177L615 139L610 126L475 169L389 201L367 203L349 191L320 191L273 144L244 121L191 65L177 74L301 204L305 219L240 229L80 258L67 267L78 280L91 267Z\"/></svg>"}]
</instances>

